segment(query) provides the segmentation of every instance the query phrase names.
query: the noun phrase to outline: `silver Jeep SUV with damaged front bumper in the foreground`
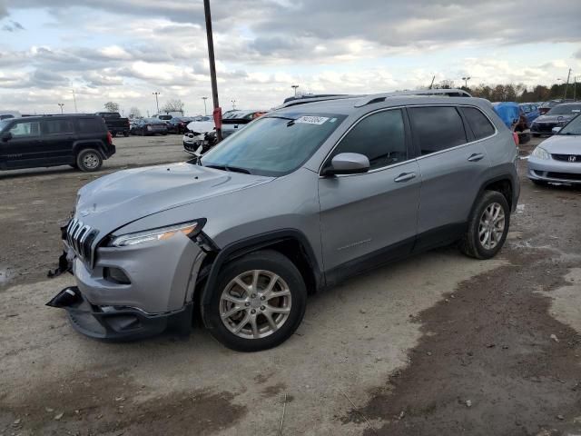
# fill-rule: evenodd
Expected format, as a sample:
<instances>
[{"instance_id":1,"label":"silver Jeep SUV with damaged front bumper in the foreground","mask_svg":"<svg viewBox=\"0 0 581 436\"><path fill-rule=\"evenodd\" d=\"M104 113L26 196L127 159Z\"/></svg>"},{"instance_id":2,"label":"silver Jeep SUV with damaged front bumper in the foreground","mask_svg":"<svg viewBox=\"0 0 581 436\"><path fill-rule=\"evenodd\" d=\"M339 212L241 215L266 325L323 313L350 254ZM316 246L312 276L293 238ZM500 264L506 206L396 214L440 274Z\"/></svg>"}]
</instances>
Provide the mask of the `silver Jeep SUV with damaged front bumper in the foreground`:
<instances>
[{"instance_id":1,"label":"silver Jeep SUV with damaged front bumper in the foreground","mask_svg":"<svg viewBox=\"0 0 581 436\"><path fill-rule=\"evenodd\" d=\"M172 325L264 350L307 294L457 243L498 253L517 205L517 146L459 90L293 100L188 163L85 185L63 228L77 285L49 305L75 329L127 340Z\"/></svg>"}]
</instances>

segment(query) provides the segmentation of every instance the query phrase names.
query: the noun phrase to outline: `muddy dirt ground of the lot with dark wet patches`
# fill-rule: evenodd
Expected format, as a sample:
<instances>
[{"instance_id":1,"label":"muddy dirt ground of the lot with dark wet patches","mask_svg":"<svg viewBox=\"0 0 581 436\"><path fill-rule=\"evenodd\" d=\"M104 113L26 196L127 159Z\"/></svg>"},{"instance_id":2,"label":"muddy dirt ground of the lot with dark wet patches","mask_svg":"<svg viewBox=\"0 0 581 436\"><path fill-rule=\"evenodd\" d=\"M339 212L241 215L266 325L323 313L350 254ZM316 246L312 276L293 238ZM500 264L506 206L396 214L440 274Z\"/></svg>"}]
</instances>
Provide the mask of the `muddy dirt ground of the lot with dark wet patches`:
<instances>
[{"instance_id":1,"label":"muddy dirt ground of the lot with dark wet patches","mask_svg":"<svg viewBox=\"0 0 581 436\"><path fill-rule=\"evenodd\" d=\"M354 278L275 350L202 329L103 343L44 306L73 283L46 279L59 220L96 176L188 158L179 136L116 144L97 174L0 174L0 435L581 434L581 189L523 177L497 259L447 248Z\"/></svg>"}]
</instances>

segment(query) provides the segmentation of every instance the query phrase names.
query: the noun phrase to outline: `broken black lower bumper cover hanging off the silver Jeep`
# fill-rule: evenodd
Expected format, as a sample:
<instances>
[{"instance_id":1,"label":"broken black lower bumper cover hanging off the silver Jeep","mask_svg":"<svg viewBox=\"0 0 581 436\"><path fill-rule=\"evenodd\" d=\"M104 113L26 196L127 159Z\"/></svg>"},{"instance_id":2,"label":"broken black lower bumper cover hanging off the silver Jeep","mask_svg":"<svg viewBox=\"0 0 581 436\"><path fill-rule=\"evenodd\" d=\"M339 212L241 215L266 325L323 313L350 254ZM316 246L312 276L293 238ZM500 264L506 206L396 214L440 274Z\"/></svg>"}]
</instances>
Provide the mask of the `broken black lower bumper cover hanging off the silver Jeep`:
<instances>
[{"instance_id":1,"label":"broken black lower bumper cover hanging off the silver Jeep","mask_svg":"<svg viewBox=\"0 0 581 436\"><path fill-rule=\"evenodd\" d=\"M149 314L130 307L96 306L76 286L64 288L46 305L66 310L77 332L94 339L134 341L165 331L170 326L182 330L191 325L191 304L181 310Z\"/></svg>"}]
</instances>

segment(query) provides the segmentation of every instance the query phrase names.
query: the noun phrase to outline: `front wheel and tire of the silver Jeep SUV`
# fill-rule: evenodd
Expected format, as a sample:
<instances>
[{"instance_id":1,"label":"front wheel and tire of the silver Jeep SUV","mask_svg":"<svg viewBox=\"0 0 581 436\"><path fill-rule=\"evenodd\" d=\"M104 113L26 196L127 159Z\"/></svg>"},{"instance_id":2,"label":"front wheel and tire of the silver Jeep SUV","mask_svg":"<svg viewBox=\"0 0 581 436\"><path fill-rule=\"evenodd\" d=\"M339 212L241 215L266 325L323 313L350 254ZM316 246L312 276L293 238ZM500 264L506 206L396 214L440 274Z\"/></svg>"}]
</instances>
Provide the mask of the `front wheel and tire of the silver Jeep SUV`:
<instances>
[{"instance_id":1,"label":"front wheel and tire of the silver Jeep SUV","mask_svg":"<svg viewBox=\"0 0 581 436\"><path fill-rule=\"evenodd\" d=\"M255 289L252 282L256 282ZM268 297L269 284L277 296ZM227 263L216 288L206 289L204 297L205 292L212 294L210 303L202 306L204 324L217 341L238 352L260 352L286 341L299 327L307 305L307 288L297 267L286 256L270 250ZM228 300L222 298L226 295ZM221 315L226 313L231 314L222 321ZM238 334L234 332L237 327Z\"/></svg>"}]
</instances>

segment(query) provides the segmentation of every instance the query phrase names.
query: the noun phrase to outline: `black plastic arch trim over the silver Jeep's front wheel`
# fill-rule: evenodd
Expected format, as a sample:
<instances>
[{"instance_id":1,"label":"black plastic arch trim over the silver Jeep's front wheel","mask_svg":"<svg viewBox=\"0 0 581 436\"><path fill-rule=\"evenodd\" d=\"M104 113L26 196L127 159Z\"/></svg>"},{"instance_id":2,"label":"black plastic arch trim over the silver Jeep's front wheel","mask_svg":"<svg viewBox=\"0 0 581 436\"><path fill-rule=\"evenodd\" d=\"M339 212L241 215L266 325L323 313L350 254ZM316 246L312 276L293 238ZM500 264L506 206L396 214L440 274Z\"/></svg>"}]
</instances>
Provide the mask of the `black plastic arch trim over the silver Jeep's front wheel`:
<instances>
[{"instance_id":1,"label":"black plastic arch trim over the silver Jeep's front wheel","mask_svg":"<svg viewBox=\"0 0 581 436\"><path fill-rule=\"evenodd\" d=\"M310 293L317 292L324 286L324 276L317 257L307 237L296 229L284 229L275 232L261 233L226 245L215 255L208 256L201 271L207 272L201 277L205 282L202 289L202 305L210 304L212 290L218 282L222 266L244 254L259 250L275 250L286 257L299 269Z\"/></svg>"}]
</instances>

